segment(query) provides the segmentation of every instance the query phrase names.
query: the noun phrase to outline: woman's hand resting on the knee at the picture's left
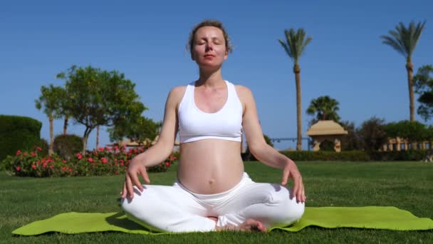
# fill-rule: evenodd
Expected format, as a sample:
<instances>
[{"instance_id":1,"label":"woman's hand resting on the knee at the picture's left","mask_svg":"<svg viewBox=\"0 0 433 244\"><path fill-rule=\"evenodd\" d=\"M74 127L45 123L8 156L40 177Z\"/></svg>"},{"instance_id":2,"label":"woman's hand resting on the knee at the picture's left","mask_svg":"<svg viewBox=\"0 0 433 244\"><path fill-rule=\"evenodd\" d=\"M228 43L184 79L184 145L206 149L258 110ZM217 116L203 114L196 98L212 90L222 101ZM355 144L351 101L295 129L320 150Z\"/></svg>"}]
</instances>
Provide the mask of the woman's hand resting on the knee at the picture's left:
<instances>
[{"instance_id":1,"label":"woman's hand resting on the knee at the picture's left","mask_svg":"<svg viewBox=\"0 0 433 244\"><path fill-rule=\"evenodd\" d=\"M140 183L138 176L141 175L145 182L150 183L149 176L144 163L140 160L139 156L132 158L130 165L127 168L125 183L123 183L122 198L129 196L130 199L134 198L134 188L137 186L138 190L143 191L143 185Z\"/></svg>"}]
</instances>

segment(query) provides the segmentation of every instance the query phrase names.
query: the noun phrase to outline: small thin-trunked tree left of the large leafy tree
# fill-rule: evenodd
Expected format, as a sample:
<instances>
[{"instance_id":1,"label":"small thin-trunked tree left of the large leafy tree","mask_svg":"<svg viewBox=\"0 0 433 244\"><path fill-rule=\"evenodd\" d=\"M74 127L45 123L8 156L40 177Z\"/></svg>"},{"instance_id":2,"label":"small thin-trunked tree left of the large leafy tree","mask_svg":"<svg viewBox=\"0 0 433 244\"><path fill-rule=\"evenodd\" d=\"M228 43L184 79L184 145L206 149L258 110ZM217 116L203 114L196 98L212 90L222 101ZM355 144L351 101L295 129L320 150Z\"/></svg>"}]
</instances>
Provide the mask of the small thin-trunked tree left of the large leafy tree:
<instances>
[{"instance_id":1,"label":"small thin-trunked tree left of the large leafy tree","mask_svg":"<svg viewBox=\"0 0 433 244\"><path fill-rule=\"evenodd\" d=\"M61 100L64 89L60 86L46 86L41 87L41 96L35 101L35 106L38 110L43 107L43 113L48 116L50 122L50 148L48 149L49 155L53 154L53 120L54 118L61 118Z\"/></svg>"}]
</instances>

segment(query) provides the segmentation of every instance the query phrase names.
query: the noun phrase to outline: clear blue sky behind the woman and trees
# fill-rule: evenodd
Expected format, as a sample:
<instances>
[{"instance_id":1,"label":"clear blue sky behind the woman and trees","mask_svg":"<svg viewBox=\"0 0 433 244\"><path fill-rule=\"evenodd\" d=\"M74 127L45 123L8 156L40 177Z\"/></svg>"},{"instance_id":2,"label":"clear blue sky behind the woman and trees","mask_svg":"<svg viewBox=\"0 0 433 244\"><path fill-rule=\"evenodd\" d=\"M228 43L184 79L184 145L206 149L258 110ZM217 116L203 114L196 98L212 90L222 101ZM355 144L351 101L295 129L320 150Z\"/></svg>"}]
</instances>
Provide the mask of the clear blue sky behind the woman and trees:
<instances>
[{"instance_id":1,"label":"clear blue sky behind the woman and trees","mask_svg":"<svg viewBox=\"0 0 433 244\"><path fill-rule=\"evenodd\" d=\"M0 114L36 118L48 139L48 118L34 101L41 86L63 86L56 73L75 64L125 73L149 108L144 115L160 121L170 88L198 75L185 51L189 31L203 19L218 19L234 44L223 77L251 88L271 138L296 137L293 63L277 41L289 28L313 37L300 59L303 133L311 120L308 104L324 95L337 99L340 117L355 126L372 116L400 121L409 118L405 58L380 36L399 22L427 21L412 61L414 71L432 64L432 7L419 0L1 1ZM54 133L61 133L63 121L54 123ZM68 130L84 132L73 123ZM95 146L95 131L88 144Z\"/></svg>"}]
</instances>

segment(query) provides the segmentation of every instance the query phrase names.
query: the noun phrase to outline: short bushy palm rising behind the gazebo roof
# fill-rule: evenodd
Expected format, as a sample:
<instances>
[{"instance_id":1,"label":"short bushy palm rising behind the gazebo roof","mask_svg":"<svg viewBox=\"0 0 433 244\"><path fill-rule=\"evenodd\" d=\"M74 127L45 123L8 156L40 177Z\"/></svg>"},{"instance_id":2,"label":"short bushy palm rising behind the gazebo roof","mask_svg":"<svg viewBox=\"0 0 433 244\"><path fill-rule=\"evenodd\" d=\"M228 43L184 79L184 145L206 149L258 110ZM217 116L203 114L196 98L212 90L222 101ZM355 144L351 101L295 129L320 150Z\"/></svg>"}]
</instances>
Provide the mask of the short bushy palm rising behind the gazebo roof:
<instances>
[{"instance_id":1,"label":"short bushy palm rising behind the gazebo roof","mask_svg":"<svg viewBox=\"0 0 433 244\"><path fill-rule=\"evenodd\" d=\"M313 123L316 121L326 121L332 120L335 122L340 121L340 116L338 116L337 111L340 109L338 107L340 103L330 96L319 96L311 100L310 106L307 108L307 114L314 116Z\"/></svg>"}]
</instances>

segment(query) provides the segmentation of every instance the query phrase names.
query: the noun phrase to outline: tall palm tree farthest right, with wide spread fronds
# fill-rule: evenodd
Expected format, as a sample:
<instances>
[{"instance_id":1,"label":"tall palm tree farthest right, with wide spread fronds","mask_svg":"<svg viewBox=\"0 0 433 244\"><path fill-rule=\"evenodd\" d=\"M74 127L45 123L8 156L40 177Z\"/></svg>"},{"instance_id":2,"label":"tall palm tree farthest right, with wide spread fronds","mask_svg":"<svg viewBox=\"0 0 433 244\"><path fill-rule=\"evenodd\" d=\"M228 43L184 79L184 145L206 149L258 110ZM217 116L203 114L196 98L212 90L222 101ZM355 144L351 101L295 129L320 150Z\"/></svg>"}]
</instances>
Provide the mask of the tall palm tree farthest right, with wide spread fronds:
<instances>
[{"instance_id":1,"label":"tall palm tree farthest right, with wide spread fronds","mask_svg":"<svg viewBox=\"0 0 433 244\"><path fill-rule=\"evenodd\" d=\"M406 58L406 70L407 70L407 82L409 86L409 111L410 121L414 121L414 88L413 88L413 64L412 54L414 53L415 47L419 36L421 36L422 30L424 29L425 21L419 22L417 25L412 21L408 28L400 22L395 27L395 31L389 31L390 36L380 36L383 39L382 43L391 46L397 50L400 54Z\"/></svg>"}]
</instances>

